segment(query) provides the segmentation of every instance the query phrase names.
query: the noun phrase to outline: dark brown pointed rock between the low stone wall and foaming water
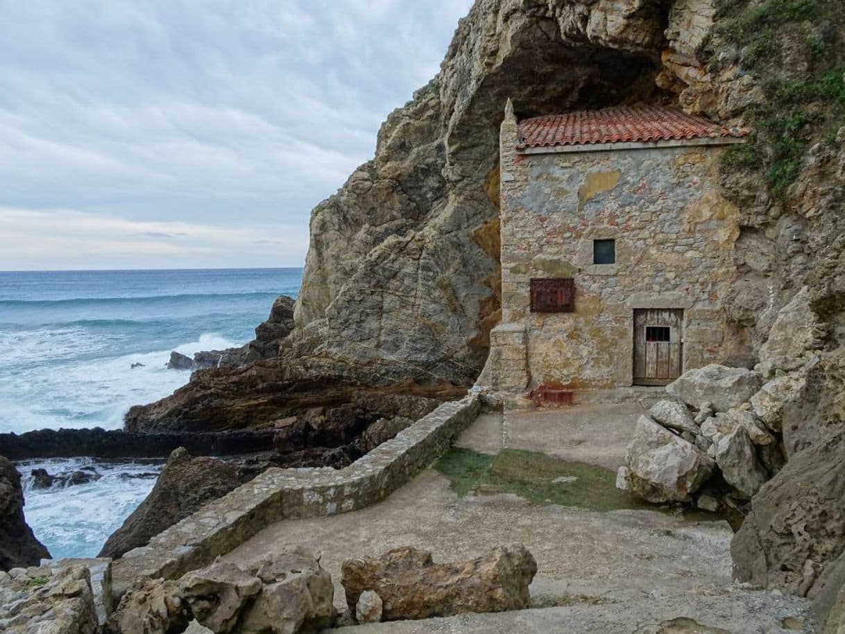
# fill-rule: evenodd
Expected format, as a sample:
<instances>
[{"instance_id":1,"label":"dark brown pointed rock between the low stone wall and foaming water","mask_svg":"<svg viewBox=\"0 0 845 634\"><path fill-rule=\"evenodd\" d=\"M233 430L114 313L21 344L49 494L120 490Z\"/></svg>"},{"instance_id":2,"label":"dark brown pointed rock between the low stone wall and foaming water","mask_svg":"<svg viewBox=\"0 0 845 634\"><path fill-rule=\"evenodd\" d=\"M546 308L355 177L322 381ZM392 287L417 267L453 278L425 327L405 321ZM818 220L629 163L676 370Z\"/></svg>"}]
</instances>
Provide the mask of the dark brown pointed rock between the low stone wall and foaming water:
<instances>
[{"instance_id":1,"label":"dark brown pointed rock between the low stone wall and foaming water","mask_svg":"<svg viewBox=\"0 0 845 634\"><path fill-rule=\"evenodd\" d=\"M237 468L209 457L191 457L183 448L174 450L146 499L106 540L100 557L117 559L211 500L241 484Z\"/></svg>"}]
</instances>

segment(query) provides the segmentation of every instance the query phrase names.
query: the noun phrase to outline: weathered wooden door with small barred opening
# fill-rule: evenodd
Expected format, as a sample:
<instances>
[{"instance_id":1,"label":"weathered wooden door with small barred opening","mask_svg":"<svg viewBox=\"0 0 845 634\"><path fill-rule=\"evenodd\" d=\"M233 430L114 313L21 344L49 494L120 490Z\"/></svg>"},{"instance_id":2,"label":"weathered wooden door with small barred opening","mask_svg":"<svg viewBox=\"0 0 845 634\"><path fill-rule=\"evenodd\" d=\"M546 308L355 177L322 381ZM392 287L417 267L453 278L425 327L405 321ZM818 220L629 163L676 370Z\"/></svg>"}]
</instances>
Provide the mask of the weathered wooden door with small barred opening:
<instances>
[{"instance_id":1,"label":"weathered wooden door with small barred opening","mask_svg":"<svg viewBox=\"0 0 845 634\"><path fill-rule=\"evenodd\" d=\"M634 385L668 385L684 371L684 311L635 309Z\"/></svg>"}]
</instances>

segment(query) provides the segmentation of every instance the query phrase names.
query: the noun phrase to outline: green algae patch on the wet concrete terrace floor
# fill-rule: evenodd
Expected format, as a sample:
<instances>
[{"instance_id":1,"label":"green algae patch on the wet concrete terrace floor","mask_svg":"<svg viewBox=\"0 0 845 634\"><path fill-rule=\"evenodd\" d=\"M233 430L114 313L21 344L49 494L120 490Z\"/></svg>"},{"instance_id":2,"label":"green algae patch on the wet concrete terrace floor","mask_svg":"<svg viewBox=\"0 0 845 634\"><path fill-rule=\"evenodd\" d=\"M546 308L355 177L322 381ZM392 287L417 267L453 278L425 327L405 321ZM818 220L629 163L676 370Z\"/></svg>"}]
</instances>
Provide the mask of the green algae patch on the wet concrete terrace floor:
<instances>
[{"instance_id":1,"label":"green algae patch on the wet concrete terrace floor","mask_svg":"<svg viewBox=\"0 0 845 634\"><path fill-rule=\"evenodd\" d=\"M435 468L452 489L468 493L519 495L534 504L577 506L591 511L653 508L616 488L616 474L603 467L553 458L537 451L503 449L498 455L455 448Z\"/></svg>"}]
</instances>

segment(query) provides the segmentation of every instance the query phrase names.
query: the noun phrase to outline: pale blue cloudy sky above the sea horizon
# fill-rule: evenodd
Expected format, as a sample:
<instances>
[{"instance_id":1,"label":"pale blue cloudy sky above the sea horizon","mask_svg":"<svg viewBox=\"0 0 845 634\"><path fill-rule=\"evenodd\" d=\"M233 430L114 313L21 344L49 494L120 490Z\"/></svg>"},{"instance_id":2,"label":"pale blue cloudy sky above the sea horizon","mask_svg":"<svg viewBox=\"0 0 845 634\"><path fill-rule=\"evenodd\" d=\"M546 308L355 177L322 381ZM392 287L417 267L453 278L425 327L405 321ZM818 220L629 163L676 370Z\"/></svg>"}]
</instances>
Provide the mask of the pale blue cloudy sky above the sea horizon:
<instances>
[{"instance_id":1,"label":"pale blue cloudy sky above the sea horizon","mask_svg":"<svg viewBox=\"0 0 845 634\"><path fill-rule=\"evenodd\" d=\"M472 0L0 0L0 270L301 266Z\"/></svg>"}]
</instances>

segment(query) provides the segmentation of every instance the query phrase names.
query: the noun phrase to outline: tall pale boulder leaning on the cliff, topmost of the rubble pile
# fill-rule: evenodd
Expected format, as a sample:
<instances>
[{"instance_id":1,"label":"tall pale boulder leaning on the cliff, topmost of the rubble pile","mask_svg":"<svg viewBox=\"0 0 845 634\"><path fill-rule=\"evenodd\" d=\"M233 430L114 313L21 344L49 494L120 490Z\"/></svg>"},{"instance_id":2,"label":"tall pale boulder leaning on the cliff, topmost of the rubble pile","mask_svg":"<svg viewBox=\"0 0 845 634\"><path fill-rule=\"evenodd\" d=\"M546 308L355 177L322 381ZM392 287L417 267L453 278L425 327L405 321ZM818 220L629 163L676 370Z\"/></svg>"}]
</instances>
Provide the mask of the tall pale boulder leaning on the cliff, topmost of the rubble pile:
<instances>
[{"instance_id":1,"label":"tall pale boulder leaning on the cliff, topmost of the rubble pile","mask_svg":"<svg viewBox=\"0 0 845 634\"><path fill-rule=\"evenodd\" d=\"M805 353L821 346L824 331L810 306L810 289L802 288L777 314L769 337L760 347L760 370L771 376L804 364Z\"/></svg>"}]
</instances>

